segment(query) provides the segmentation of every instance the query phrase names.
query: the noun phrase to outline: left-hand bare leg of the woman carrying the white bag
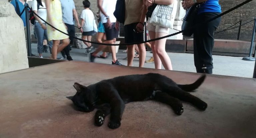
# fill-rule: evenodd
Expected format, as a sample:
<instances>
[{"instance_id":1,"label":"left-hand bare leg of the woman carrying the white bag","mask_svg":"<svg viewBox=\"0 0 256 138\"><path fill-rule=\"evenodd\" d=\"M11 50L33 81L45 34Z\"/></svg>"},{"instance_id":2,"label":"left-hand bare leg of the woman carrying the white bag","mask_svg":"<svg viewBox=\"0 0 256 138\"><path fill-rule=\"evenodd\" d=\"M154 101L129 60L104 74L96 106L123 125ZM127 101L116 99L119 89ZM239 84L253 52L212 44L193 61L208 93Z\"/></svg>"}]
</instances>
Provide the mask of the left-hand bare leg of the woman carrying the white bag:
<instances>
[{"instance_id":1,"label":"left-hand bare leg of the woman carrying the white bag","mask_svg":"<svg viewBox=\"0 0 256 138\"><path fill-rule=\"evenodd\" d=\"M156 32L149 31L149 36L150 36L151 39L155 39L156 38ZM158 55L156 53L156 41L151 42L151 48L152 48L152 51L153 51L155 69L161 69L162 62L161 62L160 58L158 57Z\"/></svg>"}]
</instances>

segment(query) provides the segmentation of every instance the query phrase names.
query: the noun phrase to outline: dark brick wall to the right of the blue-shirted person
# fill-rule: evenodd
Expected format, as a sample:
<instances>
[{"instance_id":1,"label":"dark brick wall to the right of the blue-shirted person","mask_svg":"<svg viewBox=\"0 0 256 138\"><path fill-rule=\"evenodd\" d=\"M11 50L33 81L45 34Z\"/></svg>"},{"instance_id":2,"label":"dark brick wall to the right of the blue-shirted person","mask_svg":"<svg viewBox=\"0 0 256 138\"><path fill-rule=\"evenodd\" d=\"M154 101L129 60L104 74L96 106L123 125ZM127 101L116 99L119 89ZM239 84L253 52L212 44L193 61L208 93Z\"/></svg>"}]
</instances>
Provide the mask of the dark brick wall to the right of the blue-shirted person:
<instances>
[{"instance_id":1,"label":"dark brick wall to the right of the blue-shirted person","mask_svg":"<svg viewBox=\"0 0 256 138\"><path fill-rule=\"evenodd\" d=\"M243 2L245 0L219 0L219 3L222 8L222 12L238 5L239 3ZM250 21L256 17L256 3L250 2L236 10L234 10L231 13L228 13L224 16L222 16L221 24L218 27L217 31L226 29L230 27L231 25L235 24L239 20L242 20L242 24L246 23L247 21ZM251 40L252 37L252 31L253 31L253 24L254 22L251 22L249 24L246 24L241 27L241 34L240 34L240 40ZM239 24L237 24L239 25ZM238 28L229 30L226 32L222 32L215 35L216 39L232 39L236 40L238 34Z\"/></svg>"}]
</instances>

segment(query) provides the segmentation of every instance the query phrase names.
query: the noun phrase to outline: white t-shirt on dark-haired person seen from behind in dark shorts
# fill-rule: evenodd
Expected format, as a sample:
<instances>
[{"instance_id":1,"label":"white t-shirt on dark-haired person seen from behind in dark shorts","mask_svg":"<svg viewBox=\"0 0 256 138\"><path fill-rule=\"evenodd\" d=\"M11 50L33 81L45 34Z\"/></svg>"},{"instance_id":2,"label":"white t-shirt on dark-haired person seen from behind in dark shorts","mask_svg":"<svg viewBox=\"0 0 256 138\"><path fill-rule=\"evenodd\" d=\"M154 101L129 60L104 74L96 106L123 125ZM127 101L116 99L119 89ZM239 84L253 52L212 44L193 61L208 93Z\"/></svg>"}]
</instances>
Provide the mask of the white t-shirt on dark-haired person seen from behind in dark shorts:
<instances>
[{"instance_id":1,"label":"white t-shirt on dark-haired person seen from behind in dark shorts","mask_svg":"<svg viewBox=\"0 0 256 138\"><path fill-rule=\"evenodd\" d=\"M82 26L84 32L93 31L93 21L94 15L93 12L89 9L84 9L81 13L81 17L84 19L84 24Z\"/></svg>"}]
</instances>

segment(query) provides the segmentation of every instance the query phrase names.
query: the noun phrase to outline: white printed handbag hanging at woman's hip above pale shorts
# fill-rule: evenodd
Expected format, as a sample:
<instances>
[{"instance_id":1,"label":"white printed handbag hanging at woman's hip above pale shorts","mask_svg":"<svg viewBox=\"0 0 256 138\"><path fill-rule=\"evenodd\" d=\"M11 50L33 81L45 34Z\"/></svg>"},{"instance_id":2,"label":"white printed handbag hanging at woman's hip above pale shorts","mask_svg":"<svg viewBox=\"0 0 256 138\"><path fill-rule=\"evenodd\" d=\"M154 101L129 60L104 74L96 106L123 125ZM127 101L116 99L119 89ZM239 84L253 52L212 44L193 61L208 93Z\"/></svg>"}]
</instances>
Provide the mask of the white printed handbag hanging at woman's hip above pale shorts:
<instances>
[{"instance_id":1,"label":"white printed handbag hanging at woman's hip above pale shorts","mask_svg":"<svg viewBox=\"0 0 256 138\"><path fill-rule=\"evenodd\" d=\"M177 0L174 0L171 5L158 4L152 13L149 23L173 29L177 5Z\"/></svg>"}]
</instances>

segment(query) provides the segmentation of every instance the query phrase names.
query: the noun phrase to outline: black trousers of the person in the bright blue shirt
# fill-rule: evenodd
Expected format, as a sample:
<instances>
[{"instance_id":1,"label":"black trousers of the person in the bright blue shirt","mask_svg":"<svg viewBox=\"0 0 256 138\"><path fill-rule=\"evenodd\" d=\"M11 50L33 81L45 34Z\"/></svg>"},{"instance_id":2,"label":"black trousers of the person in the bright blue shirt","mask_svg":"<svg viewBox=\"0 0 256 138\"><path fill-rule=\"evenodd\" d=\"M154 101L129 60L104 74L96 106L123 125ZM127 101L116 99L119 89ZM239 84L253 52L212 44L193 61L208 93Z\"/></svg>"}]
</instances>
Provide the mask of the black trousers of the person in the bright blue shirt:
<instances>
[{"instance_id":1,"label":"black trousers of the person in the bright blue shirt","mask_svg":"<svg viewBox=\"0 0 256 138\"><path fill-rule=\"evenodd\" d=\"M201 13L196 17L196 24L207 21L220 13ZM194 63L196 72L212 74L212 50L214 46L214 33L219 26L221 18L205 23L194 31Z\"/></svg>"}]
</instances>

